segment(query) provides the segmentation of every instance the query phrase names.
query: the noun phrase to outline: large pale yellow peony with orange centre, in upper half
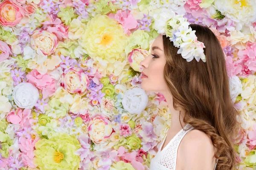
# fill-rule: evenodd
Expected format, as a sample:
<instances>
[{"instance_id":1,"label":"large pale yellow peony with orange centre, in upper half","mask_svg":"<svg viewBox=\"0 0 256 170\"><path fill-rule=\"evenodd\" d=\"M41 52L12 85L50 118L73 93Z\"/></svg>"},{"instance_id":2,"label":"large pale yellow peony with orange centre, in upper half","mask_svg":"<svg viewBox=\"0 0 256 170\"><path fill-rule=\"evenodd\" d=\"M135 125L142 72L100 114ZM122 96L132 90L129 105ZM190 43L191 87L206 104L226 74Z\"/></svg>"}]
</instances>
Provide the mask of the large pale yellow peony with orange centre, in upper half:
<instances>
[{"instance_id":1,"label":"large pale yellow peony with orange centre, in upper half","mask_svg":"<svg viewBox=\"0 0 256 170\"><path fill-rule=\"evenodd\" d=\"M128 37L122 25L106 15L98 14L90 20L82 39L82 47L88 55L99 63L104 62L106 68L125 59L124 51L128 45Z\"/></svg>"}]
</instances>

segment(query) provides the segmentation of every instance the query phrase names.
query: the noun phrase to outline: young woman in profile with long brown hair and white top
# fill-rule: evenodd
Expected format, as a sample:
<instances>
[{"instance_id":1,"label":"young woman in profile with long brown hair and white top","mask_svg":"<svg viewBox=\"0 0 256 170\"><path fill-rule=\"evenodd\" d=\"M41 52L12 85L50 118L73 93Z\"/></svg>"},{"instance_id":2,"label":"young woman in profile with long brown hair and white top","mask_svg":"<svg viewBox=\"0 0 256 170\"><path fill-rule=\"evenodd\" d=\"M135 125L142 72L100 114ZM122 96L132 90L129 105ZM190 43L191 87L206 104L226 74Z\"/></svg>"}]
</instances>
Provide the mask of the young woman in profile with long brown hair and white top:
<instances>
[{"instance_id":1,"label":"young woman in profile with long brown hair and white top","mask_svg":"<svg viewBox=\"0 0 256 170\"><path fill-rule=\"evenodd\" d=\"M165 30L173 31L171 36L160 34L151 45L151 54L140 62L142 88L162 93L172 114L171 127L150 169L232 170L236 165L233 139L239 124L230 98L224 53L209 28L195 24L184 27L175 30L167 25ZM176 34L179 30L181 33ZM180 34L185 36L182 41ZM188 34L197 38L183 44ZM193 43L197 43L198 51L186 49ZM201 54L200 46L204 47Z\"/></svg>"}]
</instances>

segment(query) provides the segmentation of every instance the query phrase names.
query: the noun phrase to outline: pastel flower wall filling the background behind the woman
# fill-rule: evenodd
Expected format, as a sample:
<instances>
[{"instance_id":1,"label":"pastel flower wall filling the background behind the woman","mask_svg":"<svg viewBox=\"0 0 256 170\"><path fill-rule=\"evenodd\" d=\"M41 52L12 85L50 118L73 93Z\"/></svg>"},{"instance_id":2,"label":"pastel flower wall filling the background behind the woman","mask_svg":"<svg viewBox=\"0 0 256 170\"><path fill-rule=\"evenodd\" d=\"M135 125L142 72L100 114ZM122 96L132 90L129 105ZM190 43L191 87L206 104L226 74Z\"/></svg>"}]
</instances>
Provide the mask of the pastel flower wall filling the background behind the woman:
<instances>
[{"instance_id":1,"label":"pastel flower wall filling the background behind the woman","mask_svg":"<svg viewBox=\"0 0 256 170\"><path fill-rule=\"evenodd\" d=\"M171 117L139 63L164 8L221 42L255 170L255 0L0 0L0 170L148 170Z\"/></svg>"}]
</instances>

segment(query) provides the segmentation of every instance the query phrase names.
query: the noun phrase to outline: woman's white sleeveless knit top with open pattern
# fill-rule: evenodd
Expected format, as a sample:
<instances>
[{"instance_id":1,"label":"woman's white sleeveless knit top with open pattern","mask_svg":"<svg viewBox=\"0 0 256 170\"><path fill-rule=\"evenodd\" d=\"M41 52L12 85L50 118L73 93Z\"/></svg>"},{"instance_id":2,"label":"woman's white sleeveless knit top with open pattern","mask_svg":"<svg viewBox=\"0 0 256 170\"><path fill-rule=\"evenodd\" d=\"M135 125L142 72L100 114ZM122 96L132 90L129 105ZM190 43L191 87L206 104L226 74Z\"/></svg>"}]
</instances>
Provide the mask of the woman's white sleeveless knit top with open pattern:
<instances>
[{"instance_id":1,"label":"woman's white sleeveless knit top with open pattern","mask_svg":"<svg viewBox=\"0 0 256 170\"><path fill-rule=\"evenodd\" d=\"M191 127L189 130L189 127ZM166 147L162 149L163 143L166 140L163 140L160 149L157 152L157 155L151 159L150 162L150 170L176 170L176 160L177 160L177 151L180 145L181 140L183 137L188 133L190 130L194 129L191 125L187 124L184 127L185 130L181 129L173 138L172 140L166 145ZM167 136L167 135L166 135ZM216 168L214 167L214 170Z\"/></svg>"}]
</instances>

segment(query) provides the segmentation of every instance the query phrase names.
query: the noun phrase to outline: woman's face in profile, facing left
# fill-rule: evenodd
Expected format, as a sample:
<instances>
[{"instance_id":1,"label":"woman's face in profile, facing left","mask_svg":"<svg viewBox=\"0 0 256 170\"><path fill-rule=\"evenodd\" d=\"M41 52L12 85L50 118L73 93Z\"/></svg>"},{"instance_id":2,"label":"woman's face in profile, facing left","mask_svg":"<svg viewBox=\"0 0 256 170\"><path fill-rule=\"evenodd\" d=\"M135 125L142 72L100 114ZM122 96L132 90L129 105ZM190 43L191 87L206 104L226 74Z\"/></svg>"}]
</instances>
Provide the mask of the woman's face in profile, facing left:
<instances>
[{"instance_id":1,"label":"woman's face in profile, facing left","mask_svg":"<svg viewBox=\"0 0 256 170\"><path fill-rule=\"evenodd\" d=\"M150 54L140 62L143 67L141 88L145 91L164 92L167 89L163 74L166 58L161 35L154 40L149 52Z\"/></svg>"}]
</instances>

